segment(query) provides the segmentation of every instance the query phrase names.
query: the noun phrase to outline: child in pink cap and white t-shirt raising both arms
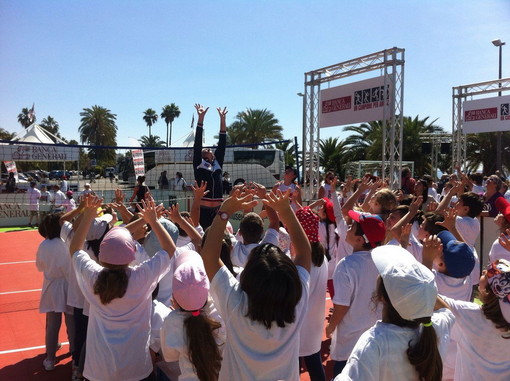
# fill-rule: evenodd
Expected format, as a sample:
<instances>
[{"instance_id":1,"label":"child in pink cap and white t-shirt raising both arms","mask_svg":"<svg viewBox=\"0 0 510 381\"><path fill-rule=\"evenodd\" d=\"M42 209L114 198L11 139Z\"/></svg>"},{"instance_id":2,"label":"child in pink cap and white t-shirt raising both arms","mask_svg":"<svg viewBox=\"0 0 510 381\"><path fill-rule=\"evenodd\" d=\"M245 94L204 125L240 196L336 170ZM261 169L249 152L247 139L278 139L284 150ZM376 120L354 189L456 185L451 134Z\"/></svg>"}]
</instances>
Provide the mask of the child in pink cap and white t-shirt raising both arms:
<instances>
[{"instance_id":1,"label":"child in pink cap and white t-shirt raising both arms","mask_svg":"<svg viewBox=\"0 0 510 381\"><path fill-rule=\"evenodd\" d=\"M87 231L102 200L86 199L83 219L73 235L70 253L78 284L90 303L87 356L83 375L90 380L139 381L153 369L149 354L151 293L169 268L175 245L158 221L162 207L142 200L141 217L152 227L162 250L136 267L129 231L115 227L101 242L100 261L82 250Z\"/></svg>"}]
</instances>

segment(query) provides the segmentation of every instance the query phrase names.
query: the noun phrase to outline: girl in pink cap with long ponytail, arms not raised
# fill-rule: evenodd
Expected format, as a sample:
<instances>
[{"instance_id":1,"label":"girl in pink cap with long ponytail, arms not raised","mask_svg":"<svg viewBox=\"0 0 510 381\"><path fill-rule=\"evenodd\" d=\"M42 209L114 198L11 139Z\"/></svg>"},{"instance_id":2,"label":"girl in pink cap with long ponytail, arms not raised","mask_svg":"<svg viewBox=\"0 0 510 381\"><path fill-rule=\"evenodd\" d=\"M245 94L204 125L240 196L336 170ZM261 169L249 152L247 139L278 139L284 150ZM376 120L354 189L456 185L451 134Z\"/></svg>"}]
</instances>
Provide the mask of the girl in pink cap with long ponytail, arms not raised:
<instances>
[{"instance_id":1,"label":"girl in pink cap with long ponytail, arms not raised","mask_svg":"<svg viewBox=\"0 0 510 381\"><path fill-rule=\"evenodd\" d=\"M175 257L172 280L174 310L161 327L161 352L179 361L179 380L215 381L221 367L225 328L212 300L200 255L191 250Z\"/></svg>"}]
</instances>

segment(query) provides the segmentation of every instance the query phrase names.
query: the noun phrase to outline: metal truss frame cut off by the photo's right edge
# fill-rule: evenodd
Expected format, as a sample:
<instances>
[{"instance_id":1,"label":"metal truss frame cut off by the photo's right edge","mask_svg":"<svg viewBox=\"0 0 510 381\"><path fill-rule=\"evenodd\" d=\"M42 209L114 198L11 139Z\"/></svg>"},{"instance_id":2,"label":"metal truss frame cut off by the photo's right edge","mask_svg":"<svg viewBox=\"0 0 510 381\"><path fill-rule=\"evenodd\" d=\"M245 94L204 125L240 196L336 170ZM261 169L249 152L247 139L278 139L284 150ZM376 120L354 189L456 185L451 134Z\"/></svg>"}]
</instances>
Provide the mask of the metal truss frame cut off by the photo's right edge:
<instances>
[{"instance_id":1,"label":"metal truss frame cut off by the photo's right edge","mask_svg":"<svg viewBox=\"0 0 510 381\"><path fill-rule=\"evenodd\" d=\"M468 97L510 91L510 78L495 79L492 81L472 83L452 88L452 172L456 163L466 165L466 134L462 130L464 114L463 105ZM464 169L464 168L463 168Z\"/></svg>"}]
</instances>

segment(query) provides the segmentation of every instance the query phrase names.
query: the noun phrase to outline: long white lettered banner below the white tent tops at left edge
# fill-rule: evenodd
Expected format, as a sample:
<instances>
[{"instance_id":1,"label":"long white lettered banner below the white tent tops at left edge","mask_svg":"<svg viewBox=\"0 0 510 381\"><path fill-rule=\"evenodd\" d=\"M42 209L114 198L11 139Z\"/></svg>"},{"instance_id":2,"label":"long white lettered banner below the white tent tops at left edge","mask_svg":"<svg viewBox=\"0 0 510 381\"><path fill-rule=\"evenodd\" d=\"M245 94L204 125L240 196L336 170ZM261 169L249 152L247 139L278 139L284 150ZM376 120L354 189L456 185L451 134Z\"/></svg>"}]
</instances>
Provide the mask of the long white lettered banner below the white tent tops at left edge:
<instances>
[{"instance_id":1,"label":"long white lettered banner below the white tent tops at left edge","mask_svg":"<svg viewBox=\"0 0 510 381\"><path fill-rule=\"evenodd\" d=\"M57 145L0 145L0 160L14 161L74 161L80 158L78 147Z\"/></svg>"}]
</instances>

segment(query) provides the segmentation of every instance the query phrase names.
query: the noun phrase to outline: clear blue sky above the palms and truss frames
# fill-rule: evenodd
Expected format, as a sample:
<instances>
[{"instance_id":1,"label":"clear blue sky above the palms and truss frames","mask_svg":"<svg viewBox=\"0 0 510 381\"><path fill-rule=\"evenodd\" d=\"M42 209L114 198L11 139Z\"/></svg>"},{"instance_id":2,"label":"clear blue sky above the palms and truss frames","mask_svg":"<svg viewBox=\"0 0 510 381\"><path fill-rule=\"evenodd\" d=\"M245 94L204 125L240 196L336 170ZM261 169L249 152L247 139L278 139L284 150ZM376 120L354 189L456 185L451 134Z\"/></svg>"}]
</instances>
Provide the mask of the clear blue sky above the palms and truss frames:
<instances>
[{"instance_id":1,"label":"clear blue sky above the palms and truss frames","mask_svg":"<svg viewBox=\"0 0 510 381\"><path fill-rule=\"evenodd\" d=\"M300 141L305 72L397 46L406 49L405 115L451 131L452 87L497 78L495 38L507 42L508 77L509 0L0 0L0 127L22 134L17 115L35 103L38 121L51 115L78 140L80 112L99 105L117 115L118 145L130 145L148 135L143 111L173 102L175 142L202 103L207 144L217 106L228 107L228 124L267 108ZM165 139L163 121L152 134ZM330 136L345 133L321 130Z\"/></svg>"}]
</instances>

